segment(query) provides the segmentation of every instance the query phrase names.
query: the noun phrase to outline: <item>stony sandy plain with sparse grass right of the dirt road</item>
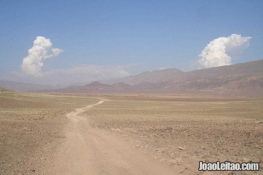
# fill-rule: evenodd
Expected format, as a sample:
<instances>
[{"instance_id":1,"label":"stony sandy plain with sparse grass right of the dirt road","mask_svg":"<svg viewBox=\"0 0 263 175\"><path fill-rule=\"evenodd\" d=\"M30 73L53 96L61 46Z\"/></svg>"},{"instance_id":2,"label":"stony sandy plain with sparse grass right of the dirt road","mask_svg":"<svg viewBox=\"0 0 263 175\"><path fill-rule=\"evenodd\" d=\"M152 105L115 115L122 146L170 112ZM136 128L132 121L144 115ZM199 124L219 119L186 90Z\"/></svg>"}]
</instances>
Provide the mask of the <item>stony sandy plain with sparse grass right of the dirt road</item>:
<instances>
[{"instance_id":1,"label":"stony sandy plain with sparse grass right of the dirt road","mask_svg":"<svg viewBox=\"0 0 263 175\"><path fill-rule=\"evenodd\" d=\"M86 116L94 128L119 137L127 135L125 139L131 145L151 154L156 161L166 162L180 172L201 174L197 170L200 160L259 162L262 159L262 109L262 101L111 100L91 109Z\"/></svg>"}]
</instances>

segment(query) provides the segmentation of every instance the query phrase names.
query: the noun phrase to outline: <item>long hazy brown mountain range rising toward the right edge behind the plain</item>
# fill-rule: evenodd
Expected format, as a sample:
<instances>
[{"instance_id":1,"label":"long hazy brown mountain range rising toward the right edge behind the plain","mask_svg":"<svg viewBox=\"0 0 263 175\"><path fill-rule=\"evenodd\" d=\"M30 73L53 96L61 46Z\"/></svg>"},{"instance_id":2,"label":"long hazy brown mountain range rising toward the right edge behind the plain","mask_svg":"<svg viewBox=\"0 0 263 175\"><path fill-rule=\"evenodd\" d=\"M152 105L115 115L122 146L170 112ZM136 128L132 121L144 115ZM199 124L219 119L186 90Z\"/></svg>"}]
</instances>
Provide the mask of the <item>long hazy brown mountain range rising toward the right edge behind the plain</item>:
<instances>
[{"instance_id":1,"label":"long hazy brown mountain range rising toward the right edge behind the plain","mask_svg":"<svg viewBox=\"0 0 263 175\"><path fill-rule=\"evenodd\" d=\"M76 83L75 83L76 84ZM187 93L263 95L263 60L183 72L168 68L124 78L87 82L84 86L46 89L63 93Z\"/></svg>"}]
</instances>

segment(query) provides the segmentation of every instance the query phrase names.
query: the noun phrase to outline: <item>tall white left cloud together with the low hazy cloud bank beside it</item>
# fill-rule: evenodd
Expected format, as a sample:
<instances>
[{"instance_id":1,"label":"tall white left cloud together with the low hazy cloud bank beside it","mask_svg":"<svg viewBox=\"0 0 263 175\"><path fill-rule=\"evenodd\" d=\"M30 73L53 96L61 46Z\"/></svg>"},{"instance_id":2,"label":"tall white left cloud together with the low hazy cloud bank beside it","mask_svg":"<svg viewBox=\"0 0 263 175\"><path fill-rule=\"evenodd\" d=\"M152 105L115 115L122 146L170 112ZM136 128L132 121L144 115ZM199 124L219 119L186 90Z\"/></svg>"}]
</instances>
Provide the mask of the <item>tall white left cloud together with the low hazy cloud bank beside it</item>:
<instances>
[{"instance_id":1,"label":"tall white left cloud together with the low hazy cloud bank beside it","mask_svg":"<svg viewBox=\"0 0 263 175\"><path fill-rule=\"evenodd\" d=\"M95 65L80 64L72 65L67 69L51 69L43 72L42 66L48 58L58 56L62 49L52 48L50 39L38 36L33 42L33 47L28 50L28 56L23 59L21 64L22 72L12 71L8 80L25 81L28 83L46 84L70 84L73 82L97 81L109 78L120 78L128 76L129 73L124 69L137 64L122 65Z\"/></svg>"}]
</instances>

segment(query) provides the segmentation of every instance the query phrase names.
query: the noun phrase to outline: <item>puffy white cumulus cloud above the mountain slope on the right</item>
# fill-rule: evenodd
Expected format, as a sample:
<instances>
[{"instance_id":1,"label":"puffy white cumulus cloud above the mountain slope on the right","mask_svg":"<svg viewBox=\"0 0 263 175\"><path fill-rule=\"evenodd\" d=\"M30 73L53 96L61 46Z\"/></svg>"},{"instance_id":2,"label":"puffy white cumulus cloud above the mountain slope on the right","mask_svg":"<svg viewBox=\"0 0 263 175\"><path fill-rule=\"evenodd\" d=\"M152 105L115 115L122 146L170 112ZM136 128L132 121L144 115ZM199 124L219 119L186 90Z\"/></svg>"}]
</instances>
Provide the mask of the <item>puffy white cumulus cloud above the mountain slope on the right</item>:
<instances>
[{"instance_id":1,"label":"puffy white cumulus cloud above the mountain slope on the right","mask_svg":"<svg viewBox=\"0 0 263 175\"><path fill-rule=\"evenodd\" d=\"M229 37L219 37L210 41L198 57L200 68L210 68L230 65L231 56L239 55L249 46L251 37L241 37L232 34Z\"/></svg>"}]
</instances>

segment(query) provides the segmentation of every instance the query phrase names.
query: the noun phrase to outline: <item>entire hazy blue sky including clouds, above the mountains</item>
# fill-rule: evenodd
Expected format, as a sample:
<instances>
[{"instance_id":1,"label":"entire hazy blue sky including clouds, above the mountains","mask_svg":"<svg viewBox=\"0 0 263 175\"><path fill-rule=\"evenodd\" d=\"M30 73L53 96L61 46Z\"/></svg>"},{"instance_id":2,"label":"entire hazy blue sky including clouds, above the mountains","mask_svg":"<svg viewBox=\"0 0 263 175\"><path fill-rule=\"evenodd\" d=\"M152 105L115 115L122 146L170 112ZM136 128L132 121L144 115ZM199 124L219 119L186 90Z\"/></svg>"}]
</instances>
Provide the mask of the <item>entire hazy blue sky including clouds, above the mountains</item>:
<instances>
[{"instance_id":1,"label":"entire hazy blue sky including clouds, above the mountains","mask_svg":"<svg viewBox=\"0 0 263 175\"><path fill-rule=\"evenodd\" d=\"M263 59L262 9L261 0L1 1L0 80L56 85Z\"/></svg>"}]
</instances>

